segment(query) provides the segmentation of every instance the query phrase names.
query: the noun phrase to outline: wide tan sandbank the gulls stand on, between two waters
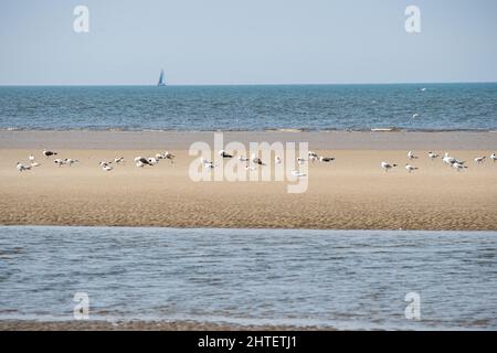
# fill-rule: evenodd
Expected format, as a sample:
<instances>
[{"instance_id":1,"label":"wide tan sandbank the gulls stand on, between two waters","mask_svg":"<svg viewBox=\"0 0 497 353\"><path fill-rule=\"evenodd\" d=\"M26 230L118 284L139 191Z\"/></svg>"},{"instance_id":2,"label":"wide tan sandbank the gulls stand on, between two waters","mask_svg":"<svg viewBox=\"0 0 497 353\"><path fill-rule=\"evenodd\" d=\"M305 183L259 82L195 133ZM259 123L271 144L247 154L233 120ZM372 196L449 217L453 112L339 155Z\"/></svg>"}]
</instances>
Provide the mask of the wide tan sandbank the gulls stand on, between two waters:
<instances>
[{"instance_id":1,"label":"wide tan sandbank the gulls stand on, between two waters","mask_svg":"<svg viewBox=\"0 0 497 353\"><path fill-rule=\"evenodd\" d=\"M0 223L3 225L95 225L167 227L258 227L348 229L497 229L497 163L489 156L495 133L477 132L232 132L225 140L308 141L332 156L331 164L309 167L308 190L288 194L287 182L193 182L188 146L212 140L211 132L51 132L0 133ZM282 138L283 137L283 138ZM403 138L406 137L406 138ZM356 142L356 143L355 143ZM159 149L159 145L161 148ZM129 146L128 148L125 148ZM329 147L327 147L329 146ZM419 149L421 146L424 149ZM59 168L43 147L78 159ZM83 148L85 147L85 148ZM356 147L356 148L351 148ZM136 149L135 149L136 148ZM171 150L176 163L138 169L136 156ZM408 173L406 151L420 156ZM429 149L466 160L457 172ZM42 164L20 173L33 153ZM102 160L123 156L112 172ZM385 173L381 161L399 163Z\"/></svg>"}]
</instances>

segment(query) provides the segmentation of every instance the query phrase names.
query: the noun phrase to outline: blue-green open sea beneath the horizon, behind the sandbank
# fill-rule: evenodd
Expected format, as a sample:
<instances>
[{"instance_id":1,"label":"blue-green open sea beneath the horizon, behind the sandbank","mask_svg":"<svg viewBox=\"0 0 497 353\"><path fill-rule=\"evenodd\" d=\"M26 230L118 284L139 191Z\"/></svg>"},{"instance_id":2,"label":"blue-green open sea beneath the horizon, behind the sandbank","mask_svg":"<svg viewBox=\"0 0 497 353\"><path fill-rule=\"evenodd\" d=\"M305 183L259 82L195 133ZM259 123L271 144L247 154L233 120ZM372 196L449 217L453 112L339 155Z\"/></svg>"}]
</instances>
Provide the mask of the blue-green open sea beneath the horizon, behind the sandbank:
<instances>
[{"instance_id":1,"label":"blue-green open sea beneath the horizon, behind the sandbank","mask_svg":"<svg viewBox=\"0 0 497 353\"><path fill-rule=\"evenodd\" d=\"M0 87L0 129L289 128L496 130L497 84Z\"/></svg>"}]
</instances>

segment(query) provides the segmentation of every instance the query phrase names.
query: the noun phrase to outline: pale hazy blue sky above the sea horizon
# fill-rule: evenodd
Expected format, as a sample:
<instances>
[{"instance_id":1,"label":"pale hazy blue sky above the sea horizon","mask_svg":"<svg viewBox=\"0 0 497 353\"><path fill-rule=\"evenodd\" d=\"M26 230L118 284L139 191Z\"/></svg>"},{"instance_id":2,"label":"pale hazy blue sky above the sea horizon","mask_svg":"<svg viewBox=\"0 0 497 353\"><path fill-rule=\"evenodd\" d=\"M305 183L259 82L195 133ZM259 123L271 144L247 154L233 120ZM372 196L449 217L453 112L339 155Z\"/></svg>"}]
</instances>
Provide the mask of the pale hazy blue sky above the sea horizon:
<instances>
[{"instance_id":1,"label":"pale hazy blue sky above the sea horizon","mask_svg":"<svg viewBox=\"0 0 497 353\"><path fill-rule=\"evenodd\" d=\"M495 0L0 1L0 85L497 82L496 43Z\"/></svg>"}]
</instances>

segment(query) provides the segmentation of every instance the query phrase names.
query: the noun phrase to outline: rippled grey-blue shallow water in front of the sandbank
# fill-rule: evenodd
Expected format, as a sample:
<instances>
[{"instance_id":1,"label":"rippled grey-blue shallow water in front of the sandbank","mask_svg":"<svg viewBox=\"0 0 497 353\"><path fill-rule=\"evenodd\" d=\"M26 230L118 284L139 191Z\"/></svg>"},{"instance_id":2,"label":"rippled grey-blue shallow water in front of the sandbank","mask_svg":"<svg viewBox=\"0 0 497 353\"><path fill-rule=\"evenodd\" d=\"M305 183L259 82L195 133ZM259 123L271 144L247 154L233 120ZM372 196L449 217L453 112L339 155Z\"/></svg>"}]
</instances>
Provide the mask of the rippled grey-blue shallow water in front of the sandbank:
<instances>
[{"instance_id":1,"label":"rippled grey-blue shallow water in front of the sandbank","mask_svg":"<svg viewBox=\"0 0 497 353\"><path fill-rule=\"evenodd\" d=\"M91 319L495 330L497 233L0 227L0 319L76 292Z\"/></svg>"}]
</instances>

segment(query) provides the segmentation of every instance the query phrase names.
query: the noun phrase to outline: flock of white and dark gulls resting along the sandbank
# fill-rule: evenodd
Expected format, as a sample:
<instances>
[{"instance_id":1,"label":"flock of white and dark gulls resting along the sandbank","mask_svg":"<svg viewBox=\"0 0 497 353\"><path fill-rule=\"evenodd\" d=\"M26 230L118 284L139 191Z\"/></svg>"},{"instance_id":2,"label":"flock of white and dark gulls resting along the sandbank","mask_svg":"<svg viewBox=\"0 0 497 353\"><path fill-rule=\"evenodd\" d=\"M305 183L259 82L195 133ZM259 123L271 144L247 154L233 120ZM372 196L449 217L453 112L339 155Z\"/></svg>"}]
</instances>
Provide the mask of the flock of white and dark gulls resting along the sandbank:
<instances>
[{"instance_id":1,"label":"flock of white and dark gulls resting along the sandbank","mask_svg":"<svg viewBox=\"0 0 497 353\"><path fill-rule=\"evenodd\" d=\"M57 152L50 151L50 150L43 150L42 154L43 154L46 159L50 158L50 157L59 156ZM224 150L220 151L219 154L220 154L221 158L223 158L223 159L232 159L232 158L235 158L233 154L228 153L228 152L224 151ZM427 157L433 161L433 160L440 158L441 156L438 156L436 152L429 152L429 153L427 153ZM145 157L136 157L136 158L135 158L135 165L136 165L137 168L144 168L144 167L146 167L146 165L154 167L154 165L158 164L160 160L168 160L168 161L170 161L171 163L175 163L175 158L176 158L176 156L172 154L172 153L170 153L169 151L157 153L155 157L148 157L148 158L145 158ZM410 161L413 161L413 160L419 159L419 157L415 156L413 151L409 151L409 152L408 152L408 159L409 159ZM487 159L486 156L482 156L482 157L476 157L476 158L474 159L474 161L475 161L475 163L477 163L477 164L482 164L482 163L485 162L486 159ZM17 163L17 169L18 169L18 171L23 172L23 171L28 171L28 170L31 170L32 168L36 168L36 167L40 167L40 165L41 165L41 163L39 163L39 162L35 160L35 158L34 158L33 154L30 154L30 156L29 156L29 160L30 160L29 164L23 164L23 163L18 162L18 163ZM245 163L245 170L256 170L257 167L264 167L264 165L267 165L267 163L264 162L263 160L261 160L255 153L253 153L250 158L244 157L244 156L239 156L239 157L237 157L237 160L239 160L241 163ZM491 160L493 162L496 162L496 161L497 161L497 156L496 156L496 153L491 153L491 154L490 154L490 160ZM200 161L201 161L202 165L203 165L205 169L214 169L214 168L216 167L216 164L215 164L213 161L209 161L209 160L207 160L205 158L201 158ZM274 161L275 161L276 164L283 163L283 159L282 159L279 156L276 156L276 157L274 158ZM308 152L308 158L307 158L307 159L305 159L305 158L298 158L298 159L297 159L297 163L298 163L299 165L305 164L305 163L307 163L307 162L313 162L313 163L314 163L314 162L330 163L330 162L332 162L332 161L335 161L335 158L334 158L334 157L319 156L319 154L316 153L315 151L309 151L309 152ZM65 158L65 159L55 158L55 159L53 160L53 162L54 162L57 167L63 167L63 165L72 167L73 164L78 163L80 161L78 161L77 159L72 159L72 158ZM124 157L116 157L116 158L115 158L114 160L112 160L112 161L101 161L101 162L98 163L98 165L102 168L103 171L109 172L109 171L114 170L114 167L115 167L115 165L121 164L121 163L124 163L124 162L125 162ZM451 168L453 168L453 169L455 169L455 170L457 170L457 171L462 171L462 170L468 168L468 167L466 165L466 162L465 162L465 161L458 160L458 159L456 159L456 158L450 156L448 152L445 152L445 154L442 157L442 162L446 163L447 165L450 165ZM381 162L380 165L381 165L381 168L382 168L385 172L388 172L389 170L391 170L391 169L398 167L399 164L396 164L396 163L390 163L390 162L384 162L384 161L383 161L383 162ZM419 170L419 168L417 168L417 167L414 167L414 165L411 164L411 163L405 163L405 170L406 170L409 173L412 173L413 171ZM304 178L304 176L307 176L305 173L302 173L302 172L299 172L298 170L293 170L293 171L292 171L292 174L293 174L294 176L297 176L297 178Z\"/></svg>"}]
</instances>

